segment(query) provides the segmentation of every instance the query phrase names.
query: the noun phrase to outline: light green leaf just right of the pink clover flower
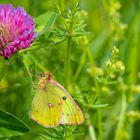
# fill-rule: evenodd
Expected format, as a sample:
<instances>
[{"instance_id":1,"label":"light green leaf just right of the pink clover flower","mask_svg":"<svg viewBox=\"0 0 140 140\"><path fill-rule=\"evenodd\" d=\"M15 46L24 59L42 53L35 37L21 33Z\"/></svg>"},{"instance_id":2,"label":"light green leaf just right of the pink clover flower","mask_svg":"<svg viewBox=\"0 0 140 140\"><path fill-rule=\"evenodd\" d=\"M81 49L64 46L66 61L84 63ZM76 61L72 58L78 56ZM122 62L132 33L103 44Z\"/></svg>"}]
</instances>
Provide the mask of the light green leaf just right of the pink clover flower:
<instances>
[{"instance_id":1,"label":"light green leaf just right of the pink clover flower","mask_svg":"<svg viewBox=\"0 0 140 140\"><path fill-rule=\"evenodd\" d=\"M37 25L36 32L39 33L39 36L44 34L47 30L50 29L50 27L52 27L52 25L56 21L56 18L57 13L52 11L46 12L35 18L35 22Z\"/></svg>"}]
</instances>

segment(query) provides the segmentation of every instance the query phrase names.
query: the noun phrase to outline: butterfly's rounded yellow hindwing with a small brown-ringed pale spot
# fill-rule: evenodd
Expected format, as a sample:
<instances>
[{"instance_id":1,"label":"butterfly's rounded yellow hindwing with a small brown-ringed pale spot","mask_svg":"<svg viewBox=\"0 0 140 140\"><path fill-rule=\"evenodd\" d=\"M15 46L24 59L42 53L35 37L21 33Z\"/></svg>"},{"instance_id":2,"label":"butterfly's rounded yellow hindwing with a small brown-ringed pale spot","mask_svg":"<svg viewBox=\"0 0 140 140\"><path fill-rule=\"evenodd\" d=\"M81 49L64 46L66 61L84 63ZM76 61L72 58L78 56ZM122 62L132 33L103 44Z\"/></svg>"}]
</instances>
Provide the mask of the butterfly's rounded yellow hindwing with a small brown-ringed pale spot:
<instances>
[{"instance_id":1,"label":"butterfly's rounded yellow hindwing with a small brown-ringed pale spot","mask_svg":"<svg viewBox=\"0 0 140 140\"><path fill-rule=\"evenodd\" d=\"M31 118L45 127L59 125L62 101L52 90L38 90L32 101Z\"/></svg>"}]
</instances>

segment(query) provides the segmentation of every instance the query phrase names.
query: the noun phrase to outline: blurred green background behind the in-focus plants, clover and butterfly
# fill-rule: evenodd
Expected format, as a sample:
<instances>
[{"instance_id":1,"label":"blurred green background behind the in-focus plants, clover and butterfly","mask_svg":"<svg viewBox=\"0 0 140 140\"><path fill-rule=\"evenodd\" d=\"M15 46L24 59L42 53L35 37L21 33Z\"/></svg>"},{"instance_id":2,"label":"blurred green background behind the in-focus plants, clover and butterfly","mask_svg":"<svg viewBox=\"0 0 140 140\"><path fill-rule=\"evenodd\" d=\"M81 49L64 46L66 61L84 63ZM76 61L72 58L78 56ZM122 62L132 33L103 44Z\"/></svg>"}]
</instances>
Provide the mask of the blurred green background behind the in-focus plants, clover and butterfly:
<instances>
[{"instance_id":1,"label":"blurred green background behind the in-focus plants, clover and butterfly","mask_svg":"<svg viewBox=\"0 0 140 140\"><path fill-rule=\"evenodd\" d=\"M20 5L33 18L47 11L56 11L57 8L55 0L0 0L0 3L12 3L14 7ZM58 3L62 9L67 9L72 6L74 1L59 0ZM90 32L90 35L85 36L86 39L80 38L81 44L72 42L70 92L84 112L85 123L67 129L83 133L84 136L79 133L76 138L72 138L73 134L71 134L69 139L94 140L95 133L97 140L140 140L140 1L81 0L80 7L85 12L83 17L88 14L88 18L85 20L87 24L85 30ZM62 22L62 19L58 17L52 28L57 28ZM78 39L76 38L76 40ZM55 79L64 85L67 42L63 41L58 45L50 46L47 40L44 40L41 45L43 48L27 53L33 80L37 72L46 69L53 72ZM115 78L112 79L115 79L116 84L109 84L108 81L102 82L98 75L100 75L100 71L103 72L103 80L109 75L106 63L108 60L113 60L111 52L114 46L119 49L117 61L124 64L122 67L125 67L125 71L122 70L123 74L115 73ZM91 64L88 59L88 51L87 54L84 53L85 48L88 48L89 56L91 55L94 64ZM26 56L26 53L24 55ZM4 73L2 73L3 79L0 81L0 107L11 112L31 127L29 133L7 139L51 139L44 135L49 137L49 134L53 134L55 131L45 130L29 117L32 84L22 57L17 57L10 64L2 58L0 59L1 67L5 67ZM79 69L79 73L77 69ZM112 69L110 73L114 73ZM100 97L92 104L93 107L87 107L84 102L90 104L88 100L92 96L95 97L96 88L99 88ZM124 112L122 111L123 92L127 98ZM108 106L102 107L102 104L108 104ZM100 106L96 107L96 105ZM123 112L122 122L119 122L120 112ZM118 127L121 127L119 138L116 136L119 135L116 134ZM60 128L57 130L60 134L63 133Z\"/></svg>"}]
</instances>

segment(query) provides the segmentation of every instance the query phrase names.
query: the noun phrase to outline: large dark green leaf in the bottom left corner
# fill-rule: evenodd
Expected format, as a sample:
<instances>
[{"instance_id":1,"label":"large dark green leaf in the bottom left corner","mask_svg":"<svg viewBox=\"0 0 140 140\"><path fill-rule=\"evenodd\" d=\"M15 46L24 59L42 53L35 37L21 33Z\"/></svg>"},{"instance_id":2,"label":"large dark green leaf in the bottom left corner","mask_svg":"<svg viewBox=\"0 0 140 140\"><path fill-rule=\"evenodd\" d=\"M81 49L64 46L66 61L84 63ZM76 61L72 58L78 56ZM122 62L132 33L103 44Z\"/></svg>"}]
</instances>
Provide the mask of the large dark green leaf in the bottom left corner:
<instances>
[{"instance_id":1,"label":"large dark green leaf in the bottom left corner","mask_svg":"<svg viewBox=\"0 0 140 140\"><path fill-rule=\"evenodd\" d=\"M30 128L11 113L0 109L0 137L23 135Z\"/></svg>"}]
</instances>

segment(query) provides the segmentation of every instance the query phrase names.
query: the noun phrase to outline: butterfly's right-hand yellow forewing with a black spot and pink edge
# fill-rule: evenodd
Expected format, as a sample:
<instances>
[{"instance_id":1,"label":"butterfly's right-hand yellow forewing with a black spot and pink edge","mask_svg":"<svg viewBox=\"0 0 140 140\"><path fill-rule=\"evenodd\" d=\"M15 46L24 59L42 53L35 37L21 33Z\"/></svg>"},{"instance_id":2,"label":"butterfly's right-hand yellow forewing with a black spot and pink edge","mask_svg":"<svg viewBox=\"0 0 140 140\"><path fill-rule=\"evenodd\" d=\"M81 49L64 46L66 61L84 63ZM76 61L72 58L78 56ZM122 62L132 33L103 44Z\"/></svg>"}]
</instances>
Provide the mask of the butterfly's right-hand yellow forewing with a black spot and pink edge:
<instances>
[{"instance_id":1,"label":"butterfly's right-hand yellow forewing with a black spot and pink edge","mask_svg":"<svg viewBox=\"0 0 140 140\"><path fill-rule=\"evenodd\" d=\"M84 116L80 107L63 86L52 80L48 83L48 88L61 98L62 117L60 124L81 124L84 122Z\"/></svg>"}]
</instances>

